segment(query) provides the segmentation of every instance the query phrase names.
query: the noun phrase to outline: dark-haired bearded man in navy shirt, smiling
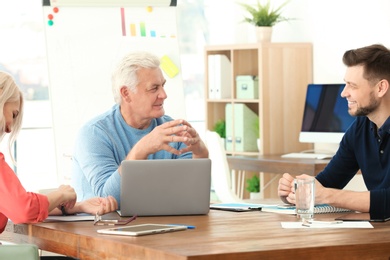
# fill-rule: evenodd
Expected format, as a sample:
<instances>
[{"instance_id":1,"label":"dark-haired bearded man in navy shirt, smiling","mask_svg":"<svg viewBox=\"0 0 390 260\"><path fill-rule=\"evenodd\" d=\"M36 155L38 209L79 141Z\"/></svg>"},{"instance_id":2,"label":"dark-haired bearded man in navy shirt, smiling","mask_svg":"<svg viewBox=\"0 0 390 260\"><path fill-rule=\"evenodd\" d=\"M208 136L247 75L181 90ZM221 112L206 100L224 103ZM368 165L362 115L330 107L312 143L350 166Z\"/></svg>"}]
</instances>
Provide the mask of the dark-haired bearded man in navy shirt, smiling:
<instances>
[{"instance_id":1,"label":"dark-haired bearded man in navy shirt, smiling","mask_svg":"<svg viewBox=\"0 0 390 260\"><path fill-rule=\"evenodd\" d=\"M390 51L375 44L344 53L347 66L341 96L356 120L329 165L316 176L316 203L390 216ZM361 170L368 191L343 190ZM303 177L303 176L298 176ZM285 173L278 194L295 204L293 177Z\"/></svg>"}]
</instances>

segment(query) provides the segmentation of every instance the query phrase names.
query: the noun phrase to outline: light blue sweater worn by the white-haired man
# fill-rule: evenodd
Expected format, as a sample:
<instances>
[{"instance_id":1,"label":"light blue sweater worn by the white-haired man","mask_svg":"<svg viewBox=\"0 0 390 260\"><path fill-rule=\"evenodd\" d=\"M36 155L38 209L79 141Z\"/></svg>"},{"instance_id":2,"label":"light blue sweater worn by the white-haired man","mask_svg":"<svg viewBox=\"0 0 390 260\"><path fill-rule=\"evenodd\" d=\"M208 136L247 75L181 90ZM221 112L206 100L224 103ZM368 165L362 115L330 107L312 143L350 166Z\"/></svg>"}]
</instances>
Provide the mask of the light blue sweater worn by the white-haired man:
<instances>
[{"instance_id":1,"label":"light blue sweater worn by the white-haired man","mask_svg":"<svg viewBox=\"0 0 390 260\"><path fill-rule=\"evenodd\" d=\"M172 121L169 116L152 120L147 129L129 126L120 113L119 105L101 114L81 129L73 153L72 186L77 200L92 197L113 196L120 205L120 175L118 167L133 146L155 127ZM177 150L186 147L184 143L170 143ZM192 158L192 153L176 156L167 151L150 154L148 159Z\"/></svg>"}]
</instances>

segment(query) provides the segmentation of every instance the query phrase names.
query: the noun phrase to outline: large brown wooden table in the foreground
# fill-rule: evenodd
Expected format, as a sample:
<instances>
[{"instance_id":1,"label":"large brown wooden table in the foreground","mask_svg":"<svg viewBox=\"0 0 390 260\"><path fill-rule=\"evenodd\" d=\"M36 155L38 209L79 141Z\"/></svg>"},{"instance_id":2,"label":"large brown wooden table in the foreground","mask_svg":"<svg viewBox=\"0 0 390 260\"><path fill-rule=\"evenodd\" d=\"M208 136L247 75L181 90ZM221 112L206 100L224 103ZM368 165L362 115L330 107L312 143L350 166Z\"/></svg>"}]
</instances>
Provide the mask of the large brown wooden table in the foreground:
<instances>
[{"instance_id":1,"label":"large brown wooden table in the foreground","mask_svg":"<svg viewBox=\"0 0 390 260\"><path fill-rule=\"evenodd\" d=\"M334 218L341 214L318 214ZM390 222L370 229L283 229L294 215L212 210L206 216L139 217L131 224L195 229L142 237L101 235L89 222L13 225L12 238L80 259L389 259Z\"/></svg>"}]
</instances>

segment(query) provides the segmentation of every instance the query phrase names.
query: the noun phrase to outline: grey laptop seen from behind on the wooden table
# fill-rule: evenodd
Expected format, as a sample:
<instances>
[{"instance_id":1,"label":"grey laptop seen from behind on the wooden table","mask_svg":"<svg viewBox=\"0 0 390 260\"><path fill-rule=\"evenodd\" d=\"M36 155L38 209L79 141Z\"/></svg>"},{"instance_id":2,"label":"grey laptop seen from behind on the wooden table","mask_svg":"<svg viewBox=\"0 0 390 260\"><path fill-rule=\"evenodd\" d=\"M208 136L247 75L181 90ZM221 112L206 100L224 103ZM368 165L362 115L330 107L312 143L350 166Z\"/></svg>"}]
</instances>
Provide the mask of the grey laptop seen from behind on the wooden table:
<instances>
[{"instance_id":1,"label":"grey laptop seen from behind on the wooden table","mask_svg":"<svg viewBox=\"0 0 390 260\"><path fill-rule=\"evenodd\" d=\"M211 160L125 160L120 216L205 215L210 207Z\"/></svg>"}]
</instances>

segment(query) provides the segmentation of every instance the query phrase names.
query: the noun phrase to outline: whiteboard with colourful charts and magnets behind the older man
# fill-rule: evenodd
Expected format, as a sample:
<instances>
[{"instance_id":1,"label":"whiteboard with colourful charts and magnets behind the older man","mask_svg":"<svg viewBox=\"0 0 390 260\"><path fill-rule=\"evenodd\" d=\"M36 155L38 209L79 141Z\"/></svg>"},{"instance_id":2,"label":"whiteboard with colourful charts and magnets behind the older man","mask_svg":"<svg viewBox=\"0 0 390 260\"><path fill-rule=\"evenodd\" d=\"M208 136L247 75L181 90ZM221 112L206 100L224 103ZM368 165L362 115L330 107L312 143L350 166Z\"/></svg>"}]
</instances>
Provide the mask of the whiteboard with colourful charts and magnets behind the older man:
<instances>
[{"instance_id":1,"label":"whiteboard with colourful charts and magnets behind the older man","mask_svg":"<svg viewBox=\"0 0 390 260\"><path fill-rule=\"evenodd\" d=\"M57 174L69 183L78 130L114 105L111 72L126 53L164 57L165 112L185 118L185 104L175 7L57 8L44 6L43 15Z\"/></svg>"}]
</instances>

